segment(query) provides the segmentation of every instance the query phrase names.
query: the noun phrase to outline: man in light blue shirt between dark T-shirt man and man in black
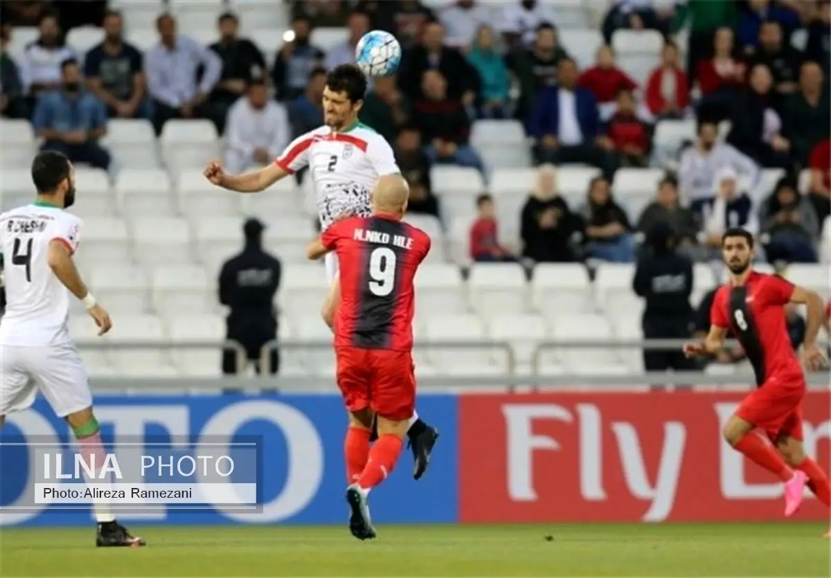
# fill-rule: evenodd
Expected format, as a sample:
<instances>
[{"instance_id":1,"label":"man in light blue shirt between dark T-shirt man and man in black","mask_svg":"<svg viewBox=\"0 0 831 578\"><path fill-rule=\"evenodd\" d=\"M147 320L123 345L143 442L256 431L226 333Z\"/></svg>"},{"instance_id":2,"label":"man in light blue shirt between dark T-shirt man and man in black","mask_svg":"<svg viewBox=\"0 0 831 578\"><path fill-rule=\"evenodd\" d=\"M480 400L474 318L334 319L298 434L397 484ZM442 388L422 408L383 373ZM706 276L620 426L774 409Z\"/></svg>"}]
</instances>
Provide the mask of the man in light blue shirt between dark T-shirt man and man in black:
<instances>
[{"instance_id":1,"label":"man in light blue shirt between dark T-shirt man and man in black","mask_svg":"<svg viewBox=\"0 0 831 578\"><path fill-rule=\"evenodd\" d=\"M156 19L160 42L145 54L147 91L153 99L153 125L156 134L170 119L204 118L211 120L221 133L224 116L207 102L222 75L222 61L216 52L193 38L176 33L176 21L170 14ZM196 82L199 66L202 79Z\"/></svg>"}]
</instances>

